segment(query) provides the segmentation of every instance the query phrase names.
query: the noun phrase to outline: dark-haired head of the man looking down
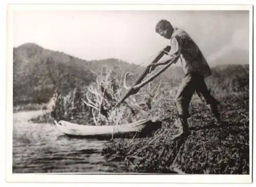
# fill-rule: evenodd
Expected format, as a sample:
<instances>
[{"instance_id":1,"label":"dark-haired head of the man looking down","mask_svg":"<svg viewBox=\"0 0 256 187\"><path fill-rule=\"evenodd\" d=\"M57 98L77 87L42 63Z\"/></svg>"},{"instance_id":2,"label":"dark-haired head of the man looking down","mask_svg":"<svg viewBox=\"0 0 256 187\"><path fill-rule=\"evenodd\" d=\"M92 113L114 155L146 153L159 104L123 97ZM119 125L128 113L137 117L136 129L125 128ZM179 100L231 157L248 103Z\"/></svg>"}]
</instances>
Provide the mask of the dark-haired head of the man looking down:
<instances>
[{"instance_id":1,"label":"dark-haired head of the man looking down","mask_svg":"<svg viewBox=\"0 0 256 187\"><path fill-rule=\"evenodd\" d=\"M161 19L156 25L156 32L166 39L170 39L173 34L173 26L169 21Z\"/></svg>"}]
</instances>

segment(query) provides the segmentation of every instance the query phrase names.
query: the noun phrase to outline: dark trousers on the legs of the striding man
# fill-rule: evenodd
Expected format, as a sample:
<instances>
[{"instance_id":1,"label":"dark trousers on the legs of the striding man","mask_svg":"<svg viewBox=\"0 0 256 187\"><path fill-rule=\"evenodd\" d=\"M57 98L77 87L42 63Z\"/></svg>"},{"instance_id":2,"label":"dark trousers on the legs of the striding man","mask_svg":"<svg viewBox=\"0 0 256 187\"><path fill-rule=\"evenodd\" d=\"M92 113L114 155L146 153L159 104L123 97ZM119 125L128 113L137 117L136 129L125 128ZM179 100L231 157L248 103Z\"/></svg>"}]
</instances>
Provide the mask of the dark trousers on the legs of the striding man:
<instances>
[{"instance_id":1,"label":"dark trousers on the legs of the striding man","mask_svg":"<svg viewBox=\"0 0 256 187\"><path fill-rule=\"evenodd\" d=\"M206 104L216 104L218 101L210 95L204 82L204 77L196 72L185 75L175 97L175 104L180 118L189 117L189 103L196 91L199 98Z\"/></svg>"}]
</instances>

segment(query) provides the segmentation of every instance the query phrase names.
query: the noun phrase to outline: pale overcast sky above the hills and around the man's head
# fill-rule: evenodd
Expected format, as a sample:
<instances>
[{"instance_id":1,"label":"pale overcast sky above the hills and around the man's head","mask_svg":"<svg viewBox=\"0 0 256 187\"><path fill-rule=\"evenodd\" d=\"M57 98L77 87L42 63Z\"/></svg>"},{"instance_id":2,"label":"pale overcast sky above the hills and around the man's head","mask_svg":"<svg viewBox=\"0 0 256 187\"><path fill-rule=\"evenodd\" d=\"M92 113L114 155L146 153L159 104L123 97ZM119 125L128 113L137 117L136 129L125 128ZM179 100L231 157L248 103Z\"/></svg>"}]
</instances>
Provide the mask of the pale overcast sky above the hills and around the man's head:
<instances>
[{"instance_id":1,"label":"pale overcast sky above the hills and around the man's head","mask_svg":"<svg viewBox=\"0 0 256 187\"><path fill-rule=\"evenodd\" d=\"M184 29L207 60L230 49L249 50L249 11L16 10L14 47L34 42L84 60L140 64L169 44L155 32L160 19Z\"/></svg>"}]
</instances>

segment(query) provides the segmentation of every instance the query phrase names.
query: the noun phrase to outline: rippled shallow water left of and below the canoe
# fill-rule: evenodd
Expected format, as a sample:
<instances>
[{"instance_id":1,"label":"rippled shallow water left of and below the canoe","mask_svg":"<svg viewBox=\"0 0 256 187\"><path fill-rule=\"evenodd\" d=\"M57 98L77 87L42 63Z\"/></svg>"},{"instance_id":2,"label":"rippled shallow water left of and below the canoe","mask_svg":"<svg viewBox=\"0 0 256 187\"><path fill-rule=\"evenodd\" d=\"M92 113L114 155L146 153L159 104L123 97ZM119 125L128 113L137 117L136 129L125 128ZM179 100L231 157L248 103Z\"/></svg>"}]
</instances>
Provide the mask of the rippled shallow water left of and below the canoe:
<instances>
[{"instance_id":1,"label":"rippled shallow water left of and below the canoe","mask_svg":"<svg viewBox=\"0 0 256 187\"><path fill-rule=\"evenodd\" d=\"M106 141L69 138L53 124L28 122L42 112L13 114L13 173L127 172L123 162L101 156Z\"/></svg>"}]
</instances>

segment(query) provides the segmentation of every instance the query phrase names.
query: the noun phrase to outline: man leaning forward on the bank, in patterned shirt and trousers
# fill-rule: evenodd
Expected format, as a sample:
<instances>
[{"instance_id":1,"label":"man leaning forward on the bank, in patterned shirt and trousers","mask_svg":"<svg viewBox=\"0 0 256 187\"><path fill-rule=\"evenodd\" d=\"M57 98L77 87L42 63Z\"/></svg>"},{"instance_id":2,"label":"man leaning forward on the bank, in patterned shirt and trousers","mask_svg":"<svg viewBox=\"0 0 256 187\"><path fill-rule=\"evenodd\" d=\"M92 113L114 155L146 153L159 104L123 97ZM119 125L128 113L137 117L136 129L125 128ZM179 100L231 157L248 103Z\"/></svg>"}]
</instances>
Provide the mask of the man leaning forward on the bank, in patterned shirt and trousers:
<instances>
[{"instance_id":1,"label":"man leaning forward on the bank, in patterned shirt and trousers","mask_svg":"<svg viewBox=\"0 0 256 187\"><path fill-rule=\"evenodd\" d=\"M189 103L196 91L201 100L205 100L210 106L211 111L215 114L218 122L221 122L218 112L219 102L210 95L204 78L211 75L211 71L207 61L197 44L190 36L182 29L173 27L169 21L160 20L156 25L156 32L162 37L170 40L171 50L170 56L179 56L177 62L181 63L184 79L179 87L175 98L175 105L178 110L179 118L176 120L176 125L181 125L183 132L176 137L187 136L189 134L187 119L189 118ZM166 63L151 64L156 67Z\"/></svg>"}]
</instances>

